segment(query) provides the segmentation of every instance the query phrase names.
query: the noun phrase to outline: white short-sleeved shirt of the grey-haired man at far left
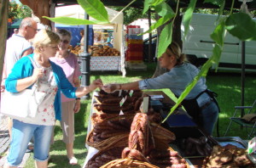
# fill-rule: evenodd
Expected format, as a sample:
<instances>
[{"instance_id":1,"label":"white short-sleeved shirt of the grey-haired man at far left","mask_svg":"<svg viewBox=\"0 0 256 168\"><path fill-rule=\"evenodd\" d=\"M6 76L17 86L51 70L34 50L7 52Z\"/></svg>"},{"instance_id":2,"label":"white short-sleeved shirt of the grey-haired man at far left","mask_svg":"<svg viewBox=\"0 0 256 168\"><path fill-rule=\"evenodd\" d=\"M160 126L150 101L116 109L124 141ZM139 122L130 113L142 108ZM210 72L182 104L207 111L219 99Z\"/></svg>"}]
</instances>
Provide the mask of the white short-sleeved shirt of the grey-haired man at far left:
<instances>
[{"instance_id":1,"label":"white short-sleeved shirt of the grey-haired man at far left","mask_svg":"<svg viewBox=\"0 0 256 168\"><path fill-rule=\"evenodd\" d=\"M21 59L22 54L29 48L32 48L32 45L23 36L14 34L13 36L9 37L6 42L4 56L7 76L9 76L9 73L13 69L15 63Z\"/></svg>"}]
</instances>

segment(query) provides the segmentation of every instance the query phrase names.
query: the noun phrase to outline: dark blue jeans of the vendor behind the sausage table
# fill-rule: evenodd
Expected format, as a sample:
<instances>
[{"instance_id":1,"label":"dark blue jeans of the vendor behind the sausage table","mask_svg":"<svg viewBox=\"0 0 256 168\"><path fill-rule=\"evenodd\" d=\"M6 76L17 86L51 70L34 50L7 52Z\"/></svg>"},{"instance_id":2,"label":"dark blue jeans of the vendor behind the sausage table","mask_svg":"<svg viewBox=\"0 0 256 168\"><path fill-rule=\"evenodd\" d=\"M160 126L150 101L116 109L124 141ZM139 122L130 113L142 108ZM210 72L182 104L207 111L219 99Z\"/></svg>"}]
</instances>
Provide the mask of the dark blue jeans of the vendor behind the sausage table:
<instances>
[{"instance_id":1,"label":"dark blue jeans of the vendor behind the sausage table","mask_svg":"<svg viewBox=\"0 0 256 168\"><path fill-rule=\"evenodd\" d=\"M213 101L205 109L201 110L203 127L205 131L212 135L215 122L218 120L218 106Z\"/></svg>"}]
</instances>

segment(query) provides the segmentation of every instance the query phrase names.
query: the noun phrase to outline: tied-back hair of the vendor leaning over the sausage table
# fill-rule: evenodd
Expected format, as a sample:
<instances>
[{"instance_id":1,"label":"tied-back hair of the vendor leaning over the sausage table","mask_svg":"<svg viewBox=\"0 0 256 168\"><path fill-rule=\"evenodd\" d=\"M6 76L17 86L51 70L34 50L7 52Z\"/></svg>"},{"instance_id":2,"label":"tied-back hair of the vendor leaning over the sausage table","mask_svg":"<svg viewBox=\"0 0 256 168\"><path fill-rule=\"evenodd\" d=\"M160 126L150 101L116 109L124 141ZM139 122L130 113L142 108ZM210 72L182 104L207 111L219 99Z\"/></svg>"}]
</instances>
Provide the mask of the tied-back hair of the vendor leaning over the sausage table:
<instances>
[{"instance_id":1,"label":"tied-back hair of the vendor leaning over the sausage table","mask_svg":"<svg viewBox=\"0 0 256 168\"><path fill-rule=\"evenodd\" d=\"M172 42L166 49L166 53L171 56L172 54L176 56L177 64L183 64L186 61L186 55L182 53L181 48L177 42Z\"/></svg>"}]
</instances>

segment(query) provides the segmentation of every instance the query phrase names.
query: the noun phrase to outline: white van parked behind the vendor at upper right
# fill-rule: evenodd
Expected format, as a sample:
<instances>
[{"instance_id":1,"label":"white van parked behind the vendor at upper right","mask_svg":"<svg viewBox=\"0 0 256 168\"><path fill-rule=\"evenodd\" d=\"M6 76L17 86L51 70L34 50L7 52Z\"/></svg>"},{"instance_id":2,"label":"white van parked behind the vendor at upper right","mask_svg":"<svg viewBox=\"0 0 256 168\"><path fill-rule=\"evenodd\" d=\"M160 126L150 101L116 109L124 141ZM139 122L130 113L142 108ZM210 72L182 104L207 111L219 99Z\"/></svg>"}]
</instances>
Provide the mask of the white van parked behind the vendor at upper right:
<instances>
[{"instance_id":1,"label":"white van parked behind the vendor at upper right","mask_svg":"<svg viewBox=\"0 0 256 168\"><path fill-rule=\"evenodd\" d=\"M201 66L212 56L214 42L210 35L216 27L217 18L218 15L214 14L193 14L188 35L183 42L183 53L186 53L191 63L196 66ZM245 46L246 70L255 71L256 42L245 42ZM212 69L214 68L213 65ZM218 70L241 70L241 41L229 32L224 39L224 50L219 60Z\"/></svg>"}]
</instances>

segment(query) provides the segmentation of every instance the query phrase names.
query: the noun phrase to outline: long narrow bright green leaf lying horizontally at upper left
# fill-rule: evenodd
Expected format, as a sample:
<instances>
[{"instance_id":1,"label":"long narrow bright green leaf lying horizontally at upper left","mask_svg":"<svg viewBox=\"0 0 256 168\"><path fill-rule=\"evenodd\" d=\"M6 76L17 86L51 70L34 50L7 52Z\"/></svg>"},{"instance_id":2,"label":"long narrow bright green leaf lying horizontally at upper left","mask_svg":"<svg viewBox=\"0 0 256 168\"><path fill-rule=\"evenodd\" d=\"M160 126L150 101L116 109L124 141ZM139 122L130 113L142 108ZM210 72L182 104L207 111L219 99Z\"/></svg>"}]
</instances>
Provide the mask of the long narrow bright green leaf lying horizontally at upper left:
<instances>
[{"instance_id":1,"label":"long narrow bright green leaf lying horizontally at upper left","mask_svg":"<svg viewBox=\"0 0 256 168\"><path fill-rule=\"evenodd\" d=\"M56 18L49 18L46 16L43 16L43 18L46 18L48 20L51 20L56 23L60 23L63 25L105 25L109 24L109 22L103 22L98 20L82 20L82 19L75 19L75 18L69 18L69 17L56 17Z\"/></svg>"}]
</instances>

